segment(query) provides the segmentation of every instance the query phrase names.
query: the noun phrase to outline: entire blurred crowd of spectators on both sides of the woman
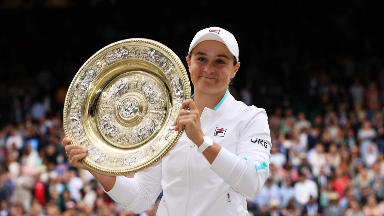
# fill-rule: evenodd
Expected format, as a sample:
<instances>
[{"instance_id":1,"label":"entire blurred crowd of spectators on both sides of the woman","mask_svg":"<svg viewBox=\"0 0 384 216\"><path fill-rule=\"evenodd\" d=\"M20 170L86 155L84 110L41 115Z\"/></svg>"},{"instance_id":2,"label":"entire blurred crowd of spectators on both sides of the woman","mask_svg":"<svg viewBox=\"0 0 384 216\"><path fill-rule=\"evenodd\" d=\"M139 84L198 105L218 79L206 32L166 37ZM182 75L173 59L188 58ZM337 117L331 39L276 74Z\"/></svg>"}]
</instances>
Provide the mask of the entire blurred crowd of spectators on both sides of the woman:
<instances>
[{"instance_id":1,"label":"entire blurred crowd of spectators on both sides of the woman","mask_svg":"<svg viewBox=\"0 0 384 216\"><path fill-rule=\"evenodd\" d=\"M321 105L313 118L290 107L268 113L270 176L247 198L251 215L384 215L382 84L356 77L340 87L318 78L311 88ZM53 109L62 91L34 100L24 87L10 88L10 123L0 129L0 216L138 215L69 165L62 111ZM139 215L154 215L157 204Z\"/></svg>"}]
</instances>

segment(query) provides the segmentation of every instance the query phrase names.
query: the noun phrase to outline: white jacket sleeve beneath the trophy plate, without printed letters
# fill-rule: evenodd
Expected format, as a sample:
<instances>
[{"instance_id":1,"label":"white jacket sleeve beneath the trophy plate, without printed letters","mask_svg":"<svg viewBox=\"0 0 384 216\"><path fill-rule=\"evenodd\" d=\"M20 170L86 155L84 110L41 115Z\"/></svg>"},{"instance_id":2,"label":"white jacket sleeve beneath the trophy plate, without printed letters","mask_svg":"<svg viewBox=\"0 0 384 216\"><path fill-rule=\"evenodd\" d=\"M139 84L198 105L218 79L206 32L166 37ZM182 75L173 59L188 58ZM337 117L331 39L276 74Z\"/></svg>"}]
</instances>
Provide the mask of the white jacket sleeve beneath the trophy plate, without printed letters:
<instances>
[{"instance_id":1,"label":"white jacket sleeve beneath the trophy plate, without printed letters","mask_svg":"<svg viewBox=\"0 0 384 216\"><path fill-rule=\"evenodd\" d=\"M140 171L134 178L116 176L113 188L104 192L116 203L138 214L147 210L156 201L162 191L161 187L161 161Z\"/></svg>"}]
</instances>

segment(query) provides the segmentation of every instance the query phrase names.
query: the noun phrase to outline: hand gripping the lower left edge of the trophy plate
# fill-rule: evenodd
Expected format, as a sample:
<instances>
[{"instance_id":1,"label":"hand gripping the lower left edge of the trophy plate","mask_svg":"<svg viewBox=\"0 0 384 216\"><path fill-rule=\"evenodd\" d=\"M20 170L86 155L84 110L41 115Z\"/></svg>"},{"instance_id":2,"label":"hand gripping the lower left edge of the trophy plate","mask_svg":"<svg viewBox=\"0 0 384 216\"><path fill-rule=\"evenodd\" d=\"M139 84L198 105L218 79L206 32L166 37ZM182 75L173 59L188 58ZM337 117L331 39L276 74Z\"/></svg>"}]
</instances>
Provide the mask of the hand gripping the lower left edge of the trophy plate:
<instances>
[{"instance_id":1,"label":"hand gripping the lower left edge of the trophy plate","mask_svg":"<svg viewBox=\"0 0 384 216\"><path fill-rule=\"evenodd\" d=\"M88 170L88 168L80 161L88 155L88 149L84 149L81 146L72 145L71 139L67 137L63 139L61 145L65 147L65 151L68 155L71 166L78 169Z\"/></svg>"}]
</instances>

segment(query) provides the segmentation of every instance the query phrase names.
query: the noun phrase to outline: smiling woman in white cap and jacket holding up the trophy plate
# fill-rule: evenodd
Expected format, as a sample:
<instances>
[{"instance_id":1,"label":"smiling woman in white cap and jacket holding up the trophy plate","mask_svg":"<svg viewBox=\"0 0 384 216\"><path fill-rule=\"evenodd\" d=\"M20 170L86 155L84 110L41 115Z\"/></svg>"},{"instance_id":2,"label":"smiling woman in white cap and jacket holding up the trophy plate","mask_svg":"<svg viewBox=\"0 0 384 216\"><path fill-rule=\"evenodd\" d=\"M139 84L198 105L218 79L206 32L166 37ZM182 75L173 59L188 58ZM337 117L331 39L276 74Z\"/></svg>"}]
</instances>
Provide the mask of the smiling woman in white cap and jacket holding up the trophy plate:
<instances>
[{"instance_id":1,"label":"smiling woman in white cap and jacket holding up the trophy plate","mask_svg":"<svg viewBox=\"0 0 384 216\"><path fill-rule=\"evenodd\" d=\"M90 172L114 201L135 213L163 191L157 215L248 215L245 197L256 196L269 173L266 112L228 91L240 67L232 33L218 27L199 31L186 60L194 95L174 122L174 130L184 128L174 148L134 178ZM80 161L87 150L69 143L63 140L70 164L88 169Z\"/></svg>"}]
</instances>

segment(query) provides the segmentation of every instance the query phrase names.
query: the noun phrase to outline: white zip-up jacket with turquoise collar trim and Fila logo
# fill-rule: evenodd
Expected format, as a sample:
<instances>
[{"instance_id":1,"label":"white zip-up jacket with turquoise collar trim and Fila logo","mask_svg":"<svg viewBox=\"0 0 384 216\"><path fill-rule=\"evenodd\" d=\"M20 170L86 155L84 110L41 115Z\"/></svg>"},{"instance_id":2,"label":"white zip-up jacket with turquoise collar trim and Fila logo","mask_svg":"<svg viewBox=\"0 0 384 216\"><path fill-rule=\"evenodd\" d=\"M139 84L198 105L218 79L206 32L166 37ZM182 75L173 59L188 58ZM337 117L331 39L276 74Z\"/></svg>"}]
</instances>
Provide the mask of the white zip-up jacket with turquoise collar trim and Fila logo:
<instances>
[{"instance_id":1,"label":"white zip-up jacket with turquoise collar trim and Fila logo","mask_svg":"<svg viewBox=\"0 0 384 216\"><path fill-rule=\"evenodd\" d=\"M259 193L269 173L265 110L236 101L227 90L213 110L204 108L200 121L204 134L222 146L212 164L183 133L161 161L134 178L117 176L104 191L135 213L148 209L163 191L157 216L248 215L245 198Z\"/></svg>"}]
</instances>

